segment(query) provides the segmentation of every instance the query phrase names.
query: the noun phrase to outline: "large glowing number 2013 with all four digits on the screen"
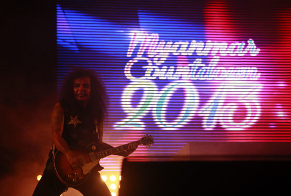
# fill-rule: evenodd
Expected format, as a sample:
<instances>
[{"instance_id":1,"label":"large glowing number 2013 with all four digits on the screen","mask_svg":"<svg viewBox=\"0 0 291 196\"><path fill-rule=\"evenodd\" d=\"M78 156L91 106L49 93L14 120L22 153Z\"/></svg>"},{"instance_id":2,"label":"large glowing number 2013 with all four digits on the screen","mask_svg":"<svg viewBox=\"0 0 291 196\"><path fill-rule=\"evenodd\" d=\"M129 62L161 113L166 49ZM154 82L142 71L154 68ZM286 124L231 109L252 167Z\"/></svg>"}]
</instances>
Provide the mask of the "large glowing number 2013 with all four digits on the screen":
<instances>
[{"instance_id":1,"label":"large glowing number 2013 with all four digits on the screen","mask_svg":"<svg viewBox=\"0 0 291 196\"><path fill-rule=\"evenodd\" d=\"M260 105L258 93L261 89L258 83L226 83L223 84L210 100L199 110L204 116L203 127L212 130L217 123L226 130L238 131L253 125L259 118ZM175 120L167 122L165 119L167 105L174 92L182 88L185 90L184 104ZM132 108L133 93L143 89L144 94L136 108ZM246 108L246 116L241 121L233 119L234 112L241 103ZM175 130L185 125L194 116L199 105L198 92L193 83L175 81L166 85L160 92L154 82L131 82L124 90L122 106L128 114L127 118L115 125L116 129L144 129L143 116L152 111L159 127L164 130Z\"/></svg>"}]
</instances>

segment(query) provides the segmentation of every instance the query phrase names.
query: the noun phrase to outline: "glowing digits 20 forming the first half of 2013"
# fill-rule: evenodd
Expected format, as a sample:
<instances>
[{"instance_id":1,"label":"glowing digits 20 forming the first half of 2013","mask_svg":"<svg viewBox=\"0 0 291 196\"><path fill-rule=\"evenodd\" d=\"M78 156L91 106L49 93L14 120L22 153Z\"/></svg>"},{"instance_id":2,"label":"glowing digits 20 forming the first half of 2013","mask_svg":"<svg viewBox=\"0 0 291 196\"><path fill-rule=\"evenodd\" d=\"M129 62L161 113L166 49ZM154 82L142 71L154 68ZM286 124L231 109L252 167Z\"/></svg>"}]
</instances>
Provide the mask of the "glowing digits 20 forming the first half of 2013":
<instances>
[{"instance_id":1,"label":"glowing digits 20 forming the first half of 2013","mask_svg":"<svg viewBox=\"0 0 291 196\"><path fill-rule=\"evenodd\" d=\"M186 91L184 94L184 105L180 114L173 122L165 120L165 111L173 93L182 88ZM136 108L131 107L132 95L138 90L143 89L144 94ZM127 118L115 125L116 128L133 128L143 129L144 123L141 118L149 111L153 111L153 116L159 127L165 130L174 130L182 127L188 122L198 106L198 93L191 82L176 81L165 86L161 92L155 83L150 81L131 82L124 90L122 96L122 106L124 111L128 114Z\"/></svg>"}]
</instances>

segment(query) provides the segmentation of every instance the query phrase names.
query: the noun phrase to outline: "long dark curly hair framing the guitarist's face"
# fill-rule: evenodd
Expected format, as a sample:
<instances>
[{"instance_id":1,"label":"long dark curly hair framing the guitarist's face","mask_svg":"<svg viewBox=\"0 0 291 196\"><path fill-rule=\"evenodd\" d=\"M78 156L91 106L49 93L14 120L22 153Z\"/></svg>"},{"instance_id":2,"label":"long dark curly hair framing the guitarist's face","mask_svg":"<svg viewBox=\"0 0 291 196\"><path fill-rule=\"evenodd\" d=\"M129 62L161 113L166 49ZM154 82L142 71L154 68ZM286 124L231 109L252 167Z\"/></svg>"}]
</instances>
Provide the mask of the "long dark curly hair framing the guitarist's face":
<instances>
[{"instance_id":1,"label":"long dark curly hair framing the guitarist's face","mask_svg":"<svg viewBox=\"0 0 291 196\"><path fill-rule=\"evenodd\" d=\"M104 84L97 73L89 69L78 68L73 70L65 79L59 101L63 107L71 108L76 105L73 87L78 78L89 77L91 82L91 96L87 103L94 117L98 120L107 113L107 94Z\"/></svg>"}]
</instances>

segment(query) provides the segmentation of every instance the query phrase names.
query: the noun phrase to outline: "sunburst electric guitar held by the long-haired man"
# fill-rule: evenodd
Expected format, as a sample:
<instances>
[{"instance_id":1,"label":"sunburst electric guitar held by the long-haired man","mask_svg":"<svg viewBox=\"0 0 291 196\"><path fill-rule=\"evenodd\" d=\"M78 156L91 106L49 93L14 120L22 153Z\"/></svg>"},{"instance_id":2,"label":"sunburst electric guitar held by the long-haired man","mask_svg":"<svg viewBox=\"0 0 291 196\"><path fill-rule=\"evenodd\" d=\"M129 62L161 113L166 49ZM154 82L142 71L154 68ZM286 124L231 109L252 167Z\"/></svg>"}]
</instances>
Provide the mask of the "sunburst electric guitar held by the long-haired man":
<instances>
[{"instance_id":1,"label":"sunburst electric guitar held by the long-haired man","mask_svg":"<svg viewBox=\"0 0 291 196\"><path fill-rule=\"evenodd\" d=\"M135 145L149 146L154 143L152 136L145 135L140 140L132 142ZM100 164L100 159L112 154L128 149L128 144L112 147L103 150L98 144L92 143L85 149L79 149L77 147L69 147L75 154L79 156L82 162L82 167L73 168L68 162L66 156L61 151L57 151L53 156L53 167L55 169L56 176L61 182L69 187L75 187L82 184L89 177L90 171L94 168L98 171L104 169Z\"/></svg>"}]
</instances>

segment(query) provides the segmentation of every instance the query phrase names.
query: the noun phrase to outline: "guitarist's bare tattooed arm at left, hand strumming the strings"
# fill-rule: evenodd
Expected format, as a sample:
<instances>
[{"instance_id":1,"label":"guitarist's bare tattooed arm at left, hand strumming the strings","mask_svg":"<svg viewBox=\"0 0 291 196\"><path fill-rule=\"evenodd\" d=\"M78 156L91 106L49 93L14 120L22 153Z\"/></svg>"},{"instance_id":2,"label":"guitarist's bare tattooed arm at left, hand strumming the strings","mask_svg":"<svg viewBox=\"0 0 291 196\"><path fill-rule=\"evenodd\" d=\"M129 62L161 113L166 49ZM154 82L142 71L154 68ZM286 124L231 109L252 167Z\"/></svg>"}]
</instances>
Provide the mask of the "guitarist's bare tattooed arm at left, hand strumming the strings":
<instances>
[{"instance_id":1,"label":"guitarist's bare tattooed arm at left, hand strumming the strings","mask_svg":"<svg viewBox=\"0 0 291 196\"><path fill-rule=\"evenodd\" d=\"M57 149L63 152L72 167L81 167L81 160L76 156L68 147L64 138L62 137L64 129L64 109L61 103L57 103L51 115L52 124L52 142L56 145Z\"/></svg>"}]
</instances>

